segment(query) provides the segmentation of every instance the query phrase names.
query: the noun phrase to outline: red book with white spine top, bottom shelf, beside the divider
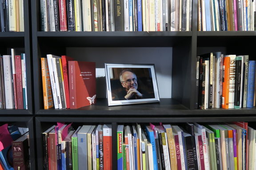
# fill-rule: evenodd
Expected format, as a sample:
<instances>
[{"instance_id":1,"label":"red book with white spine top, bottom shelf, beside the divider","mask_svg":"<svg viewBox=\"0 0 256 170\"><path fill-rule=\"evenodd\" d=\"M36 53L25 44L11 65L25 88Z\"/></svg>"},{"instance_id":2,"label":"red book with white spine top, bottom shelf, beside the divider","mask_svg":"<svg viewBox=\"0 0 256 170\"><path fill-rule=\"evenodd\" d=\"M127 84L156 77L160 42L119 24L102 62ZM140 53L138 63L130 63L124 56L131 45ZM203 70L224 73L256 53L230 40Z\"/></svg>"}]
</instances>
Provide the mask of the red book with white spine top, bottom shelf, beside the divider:
<instances>
[{"instance_id":1,"label":"red book with white spine top, bottom shelf, beside the divider","mask_svg":"<svg viewBox=\"0 0 256 170\"><path fill-rule=\"evenodd\" d=\"M112 170L112 128L111 124L103 125L104 170Z\"/></svg>"}]
</instances>

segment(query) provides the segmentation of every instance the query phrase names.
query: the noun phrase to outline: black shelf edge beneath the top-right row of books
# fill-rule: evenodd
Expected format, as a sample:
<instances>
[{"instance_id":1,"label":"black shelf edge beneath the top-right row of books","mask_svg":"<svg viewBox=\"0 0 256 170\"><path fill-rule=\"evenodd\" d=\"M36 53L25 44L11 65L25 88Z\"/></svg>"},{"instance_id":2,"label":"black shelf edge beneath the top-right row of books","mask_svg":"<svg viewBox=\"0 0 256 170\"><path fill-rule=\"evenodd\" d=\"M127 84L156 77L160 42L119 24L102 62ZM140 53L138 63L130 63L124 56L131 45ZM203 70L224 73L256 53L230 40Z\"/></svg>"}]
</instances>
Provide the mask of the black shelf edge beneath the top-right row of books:
<instances>
[{"instance_id":1,"label":"black shelf edge beneath the top-right row of books","mask_svg":"<svg viewBox=\"0 0 256 170\"><path fill-rule=\"evenodd\" d=\"M197 36L256 36L256 31L197 31Z\"/></svg>"}]
</instances>

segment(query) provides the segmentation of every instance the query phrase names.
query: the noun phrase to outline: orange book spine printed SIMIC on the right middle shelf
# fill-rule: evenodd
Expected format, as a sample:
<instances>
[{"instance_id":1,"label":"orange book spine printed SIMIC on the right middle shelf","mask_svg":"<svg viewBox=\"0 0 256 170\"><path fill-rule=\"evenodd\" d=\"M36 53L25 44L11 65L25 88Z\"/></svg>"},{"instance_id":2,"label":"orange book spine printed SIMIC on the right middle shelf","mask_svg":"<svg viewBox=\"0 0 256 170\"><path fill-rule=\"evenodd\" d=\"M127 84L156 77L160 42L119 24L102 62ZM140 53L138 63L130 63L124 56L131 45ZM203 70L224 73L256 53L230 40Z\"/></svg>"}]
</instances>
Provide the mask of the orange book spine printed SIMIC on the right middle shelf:
<instances>
[{"instance_id":1,"label":"orange book spine printed SIMIC on the right middle shelf","mask_svg":"<svg viewBox=\"0 0 256 170\"><path fill-rule=\"evenodd\" d=\"M229 98L229 67L230 58L224 57L223 62L223 88L222 88L222 108L228 109L228 98Z\"/></svg>"}]
</instances>

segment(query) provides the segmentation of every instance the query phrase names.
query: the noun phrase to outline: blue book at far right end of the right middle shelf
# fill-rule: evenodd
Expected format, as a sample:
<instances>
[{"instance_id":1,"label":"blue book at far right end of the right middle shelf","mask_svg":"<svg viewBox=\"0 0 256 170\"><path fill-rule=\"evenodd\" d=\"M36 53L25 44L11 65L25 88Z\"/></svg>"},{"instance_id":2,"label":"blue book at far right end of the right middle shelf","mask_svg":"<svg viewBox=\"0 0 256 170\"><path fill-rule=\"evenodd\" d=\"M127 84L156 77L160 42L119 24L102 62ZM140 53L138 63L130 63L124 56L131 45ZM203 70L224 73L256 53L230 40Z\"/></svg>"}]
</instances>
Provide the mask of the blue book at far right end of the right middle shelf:
<instances>
[{"instance_id":1,"label":"blue book at far right end of the right middle shelf","mask_svg":"<svg viewBox=\"0 0 256 170\"><path fill-rule=\"evenodd\" d=\"M247 104L248 108L253 108L254 98L254 83L255 83L255 63L256 61L249 61L248 69L248 90L247 90Z\"/></svg>"}]
</instances>

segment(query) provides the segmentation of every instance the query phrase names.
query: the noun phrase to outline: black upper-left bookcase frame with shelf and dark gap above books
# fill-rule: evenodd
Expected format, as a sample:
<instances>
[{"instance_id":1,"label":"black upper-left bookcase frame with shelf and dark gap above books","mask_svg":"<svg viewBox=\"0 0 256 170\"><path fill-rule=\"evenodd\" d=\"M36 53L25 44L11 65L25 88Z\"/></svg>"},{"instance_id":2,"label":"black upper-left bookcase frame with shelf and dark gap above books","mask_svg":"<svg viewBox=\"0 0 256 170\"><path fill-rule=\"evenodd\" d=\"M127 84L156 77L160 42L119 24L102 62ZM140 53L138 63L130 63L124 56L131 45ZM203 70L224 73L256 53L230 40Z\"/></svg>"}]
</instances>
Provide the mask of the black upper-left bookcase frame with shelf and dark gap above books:
<instances>
[{"instance_id":1,"label":"black upper-left bookcase frame with shelf and dark gap above books","mask_svg":"<svg viewBox=\"0 0 256 170\"><path fill-rule=\"evenodd\" d=\"M31 77L31 40L30 40L30 1L24 0L24 32L0 32L0 54L9 54L11 48L23 48L26 58L26 76L27 76L27 97L28 109L0 109L0 115L32 115L33 114L33 93L32 93L32 77Z\"/></svg>"}]
</instances>

